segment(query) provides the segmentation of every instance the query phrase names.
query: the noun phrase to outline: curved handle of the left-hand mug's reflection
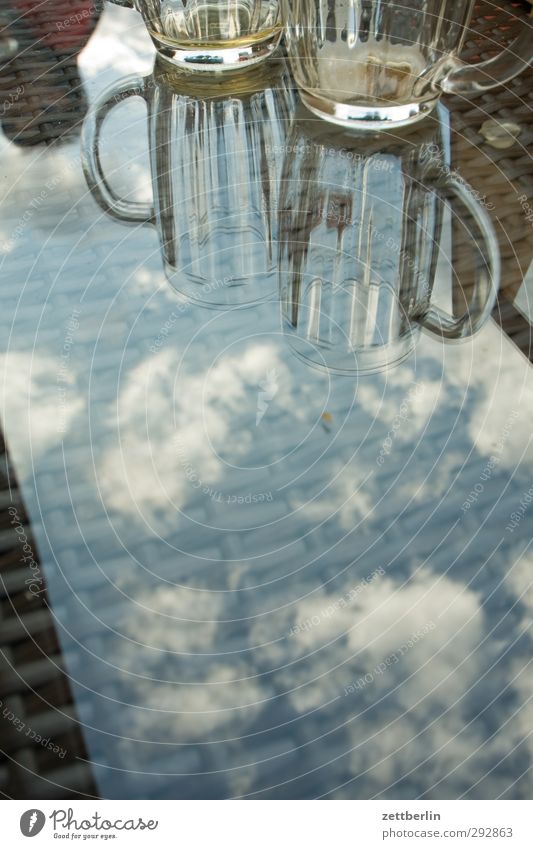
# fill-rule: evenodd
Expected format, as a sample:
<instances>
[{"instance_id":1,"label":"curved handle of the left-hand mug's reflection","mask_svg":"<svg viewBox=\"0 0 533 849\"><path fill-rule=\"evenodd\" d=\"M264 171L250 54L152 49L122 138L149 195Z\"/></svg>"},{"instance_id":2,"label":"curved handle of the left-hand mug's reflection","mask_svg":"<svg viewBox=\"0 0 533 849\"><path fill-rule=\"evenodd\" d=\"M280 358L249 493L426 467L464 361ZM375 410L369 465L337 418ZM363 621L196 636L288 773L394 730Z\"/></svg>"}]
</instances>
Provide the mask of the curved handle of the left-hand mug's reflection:
<instances>
[{"instance_id":1,"label":"curved handle of the left-hand mug's reflection","mask_svg":"<svg viewBox=\"0 0 533 849\"><path fill-rule=\"evenodd\" d=\"M153 204L118 197L104 174L100 157L100 137L107 115L117 103L134 96L142 97L144 100L142 77L125 77L119 85L107 89L95 101L83 122L81 161L91 194L104 212L128 224L153 224L155 222Z\"/></svg>"}]
</instances>

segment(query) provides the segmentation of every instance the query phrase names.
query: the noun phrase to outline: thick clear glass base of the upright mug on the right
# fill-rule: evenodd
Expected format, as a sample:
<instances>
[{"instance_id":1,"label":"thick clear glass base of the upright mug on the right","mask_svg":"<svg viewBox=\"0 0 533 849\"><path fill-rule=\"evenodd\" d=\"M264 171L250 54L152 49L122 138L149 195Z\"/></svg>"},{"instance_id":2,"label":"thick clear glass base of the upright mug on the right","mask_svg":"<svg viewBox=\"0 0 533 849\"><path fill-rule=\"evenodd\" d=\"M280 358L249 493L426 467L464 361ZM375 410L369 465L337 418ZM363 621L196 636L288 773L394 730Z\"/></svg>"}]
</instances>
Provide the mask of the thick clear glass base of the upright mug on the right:
<instances>
[{"instance_id":1,"label":"thick clear glass base of the upright mug on the right","mask_svg":"<svg viewBox=\"0 0 533 849\"><path fill-rule=\"evenodd\" d=\"M305 89L300 89L300 96L307 108L325 121L340 127L367 132L414 124L429 115L439 102L439 98L435 97L423 103L409 103L401 106L357 106L352 103L336 103Z\"/></svg>"}]
</instances>

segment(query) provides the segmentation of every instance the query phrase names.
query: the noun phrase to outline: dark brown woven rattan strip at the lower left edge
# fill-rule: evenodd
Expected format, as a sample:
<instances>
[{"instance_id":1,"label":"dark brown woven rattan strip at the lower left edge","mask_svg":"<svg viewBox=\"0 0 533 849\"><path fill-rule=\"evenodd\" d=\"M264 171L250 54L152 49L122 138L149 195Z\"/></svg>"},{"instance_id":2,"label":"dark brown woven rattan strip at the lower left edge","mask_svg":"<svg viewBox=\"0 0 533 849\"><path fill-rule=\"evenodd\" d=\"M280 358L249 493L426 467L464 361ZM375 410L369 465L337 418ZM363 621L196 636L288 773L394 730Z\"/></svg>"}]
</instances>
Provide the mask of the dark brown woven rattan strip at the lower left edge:
<instances>
[{"instance_id":1,"label":"dark brown woven rattan strip at the lower left edge","mask_svg":"<svg viewBox=\"0 0 533 849\"><path fill-rule=\"evenodd\" d=\"M0 793L94 796L84 759L44 576L0 438Z\"/></svg>"}]
</instances>

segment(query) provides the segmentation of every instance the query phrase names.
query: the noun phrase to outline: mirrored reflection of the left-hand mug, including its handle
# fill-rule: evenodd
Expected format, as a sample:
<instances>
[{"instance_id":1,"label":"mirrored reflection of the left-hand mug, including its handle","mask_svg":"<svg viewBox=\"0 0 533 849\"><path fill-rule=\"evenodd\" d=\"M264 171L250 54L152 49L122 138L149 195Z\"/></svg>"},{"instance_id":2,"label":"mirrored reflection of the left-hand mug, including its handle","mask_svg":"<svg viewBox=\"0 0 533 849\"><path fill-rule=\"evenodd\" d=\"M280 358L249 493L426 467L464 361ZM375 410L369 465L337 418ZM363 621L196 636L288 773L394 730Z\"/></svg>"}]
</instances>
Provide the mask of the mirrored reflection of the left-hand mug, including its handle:
<instances>
[{"instance_id":1,"label":"mirrored reflection of the left-hand mug, including its handle","mask_svg":"<svg viewBox=\"0 0 533 849\"><path fill-rule=\"evenodd\" d=\"M248 74L189 77L156 63L127 78L87 115L83 162L100 206L127 223L154 224L171 285L212 306L255 303L276 291L278 187L294 95L283 61ZM148 107L154 204L118 198L103 173L100 132L109 111L140 95Z\"/></svg>"}]
</instances>

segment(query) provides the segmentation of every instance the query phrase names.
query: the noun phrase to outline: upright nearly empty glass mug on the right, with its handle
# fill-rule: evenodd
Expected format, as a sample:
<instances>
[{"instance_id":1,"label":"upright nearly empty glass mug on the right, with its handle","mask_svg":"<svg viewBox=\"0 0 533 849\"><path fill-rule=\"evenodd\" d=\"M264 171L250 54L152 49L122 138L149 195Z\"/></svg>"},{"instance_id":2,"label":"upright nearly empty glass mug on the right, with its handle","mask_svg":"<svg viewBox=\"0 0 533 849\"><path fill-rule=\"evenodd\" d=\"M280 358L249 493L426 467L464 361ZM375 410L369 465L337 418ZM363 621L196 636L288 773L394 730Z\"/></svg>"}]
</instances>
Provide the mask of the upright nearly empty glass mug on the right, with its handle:
<instances>
[{"instance_id":1,"label":"upright nearly empty glass mug on the right, with its handle","mask_svg":"<svg viewBox=\"0 0 533 849\"><path fill-rule=\"evenodd\" d=\"M306 106L356 129L402 126L443 92L507 82L533 58L533 29L496 58L459 54L474 0L281 0L292 70Z\"/></svg>"}]
</instances>

